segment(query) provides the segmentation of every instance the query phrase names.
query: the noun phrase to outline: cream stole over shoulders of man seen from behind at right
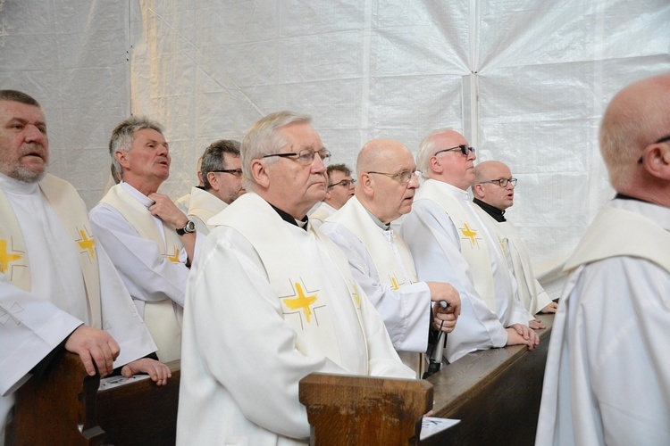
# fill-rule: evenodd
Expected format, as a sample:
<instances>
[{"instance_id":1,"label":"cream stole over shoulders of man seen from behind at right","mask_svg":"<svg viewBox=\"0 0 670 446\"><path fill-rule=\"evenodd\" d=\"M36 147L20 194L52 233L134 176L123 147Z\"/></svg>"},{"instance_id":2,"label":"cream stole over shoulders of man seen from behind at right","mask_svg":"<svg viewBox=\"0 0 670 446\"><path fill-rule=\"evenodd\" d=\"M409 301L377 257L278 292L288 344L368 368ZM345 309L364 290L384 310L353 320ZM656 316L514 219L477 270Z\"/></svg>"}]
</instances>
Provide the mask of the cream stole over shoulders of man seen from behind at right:
<instances>
[{"instance_id":1,"label":"cream stole over shoulders of man seen from behind at right","mask_svg":"<svg viewBox=\"0 0 670 446\"><path fill-rule=\"evenodd\" d=\"M670 232L666 229L636 212L606 207L590 224L563 270L570 271L609 257L626 256L653 261L670 272L669 253Z\"/></svg>"}]
</instances>

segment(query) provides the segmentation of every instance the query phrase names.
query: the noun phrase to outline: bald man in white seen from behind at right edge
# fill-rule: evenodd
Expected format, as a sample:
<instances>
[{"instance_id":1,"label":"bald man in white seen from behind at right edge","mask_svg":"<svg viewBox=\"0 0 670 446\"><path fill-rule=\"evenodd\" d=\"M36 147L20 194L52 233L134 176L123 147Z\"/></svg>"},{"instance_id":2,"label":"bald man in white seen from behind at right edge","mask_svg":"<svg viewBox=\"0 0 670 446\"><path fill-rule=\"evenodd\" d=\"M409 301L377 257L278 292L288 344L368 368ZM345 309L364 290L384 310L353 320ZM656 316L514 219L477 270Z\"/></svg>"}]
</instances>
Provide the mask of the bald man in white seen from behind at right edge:
<instances>
[{"instance_id":1,"label":"bald man in white seen from behind at right edge","mask_svg":"<svg viewBox=\"0 0 670 446\"><path fill-rule=\"evenodd\" d=\"M565 263L536 444L670 444L670 74L600 127L617 194Z\"/></svg>"}]
</instances>

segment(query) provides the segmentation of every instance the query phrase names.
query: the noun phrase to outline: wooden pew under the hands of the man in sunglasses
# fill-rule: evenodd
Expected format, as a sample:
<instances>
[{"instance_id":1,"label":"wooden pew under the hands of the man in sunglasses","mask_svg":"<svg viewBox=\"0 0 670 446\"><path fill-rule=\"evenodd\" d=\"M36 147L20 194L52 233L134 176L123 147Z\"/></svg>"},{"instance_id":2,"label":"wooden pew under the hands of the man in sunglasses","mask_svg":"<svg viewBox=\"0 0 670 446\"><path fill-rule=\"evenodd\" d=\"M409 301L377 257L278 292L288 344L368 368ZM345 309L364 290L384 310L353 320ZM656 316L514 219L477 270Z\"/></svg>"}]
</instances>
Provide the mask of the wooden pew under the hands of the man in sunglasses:
<instances>
[{"instance_id":1,"label":"wooden pew under the hands of the man in sunglasses","mask_svg":"<svg viewBox=\"0 0 670 446\"><path fill-rule=\"evenodd\" d=\"M534 443L554 315L538 318L547 328L538 330L534 351L524 346L475 351L428 378L435 417L461 420L440 446Z\"/></svg>"}]
</instances>

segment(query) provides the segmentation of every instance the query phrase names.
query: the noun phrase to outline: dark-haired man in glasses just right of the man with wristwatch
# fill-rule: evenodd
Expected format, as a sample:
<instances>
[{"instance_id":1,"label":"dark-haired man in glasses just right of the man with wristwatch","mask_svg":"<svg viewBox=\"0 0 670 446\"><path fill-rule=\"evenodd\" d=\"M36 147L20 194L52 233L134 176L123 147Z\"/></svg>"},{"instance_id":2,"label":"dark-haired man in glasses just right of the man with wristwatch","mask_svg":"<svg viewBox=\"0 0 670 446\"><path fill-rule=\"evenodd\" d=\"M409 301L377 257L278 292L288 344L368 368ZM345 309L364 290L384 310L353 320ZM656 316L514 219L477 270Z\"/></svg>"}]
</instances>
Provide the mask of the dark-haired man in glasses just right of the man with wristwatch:
<instances>
[{"instance_id":1,"label":"dark-haired man in glasses just right of the man with wristwatch","mask_svg":"<svg viewBox=\"0 0 670 446\"><path fill-rule=\"evenodd\" d=\"M191 189L187 214L196 224L197 232L206 235L214 228L207 220L247 192L242 186L239 142L220 139L209 145L202 156L200 171L203 186Z\"/></svg>"}]
</instances>

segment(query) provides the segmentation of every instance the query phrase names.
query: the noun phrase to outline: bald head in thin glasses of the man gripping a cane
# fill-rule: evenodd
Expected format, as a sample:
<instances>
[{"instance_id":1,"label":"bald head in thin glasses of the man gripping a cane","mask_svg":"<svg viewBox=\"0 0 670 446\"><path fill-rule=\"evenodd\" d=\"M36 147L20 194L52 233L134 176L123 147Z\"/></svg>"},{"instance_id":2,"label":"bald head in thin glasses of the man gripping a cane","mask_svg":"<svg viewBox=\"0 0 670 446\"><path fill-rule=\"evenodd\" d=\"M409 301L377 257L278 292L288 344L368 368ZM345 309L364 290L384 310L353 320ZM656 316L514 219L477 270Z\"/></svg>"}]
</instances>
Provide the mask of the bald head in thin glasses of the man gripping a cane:
<instances>
[{"instance_id":1,"label":"bald head in thin glasses of the man gripping a cane","mask_svg":"<svg viewBox=\"0 0 670 446\"><path fill-rule=\"evenodd\" d=\"M415 159L406 145L393 139L373 139L358 153L356 198L388 224L412 210L419 187L415 169Z\"/></svg>"}]
</instances>

